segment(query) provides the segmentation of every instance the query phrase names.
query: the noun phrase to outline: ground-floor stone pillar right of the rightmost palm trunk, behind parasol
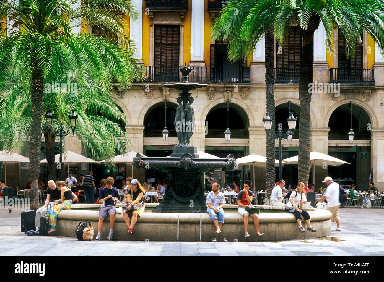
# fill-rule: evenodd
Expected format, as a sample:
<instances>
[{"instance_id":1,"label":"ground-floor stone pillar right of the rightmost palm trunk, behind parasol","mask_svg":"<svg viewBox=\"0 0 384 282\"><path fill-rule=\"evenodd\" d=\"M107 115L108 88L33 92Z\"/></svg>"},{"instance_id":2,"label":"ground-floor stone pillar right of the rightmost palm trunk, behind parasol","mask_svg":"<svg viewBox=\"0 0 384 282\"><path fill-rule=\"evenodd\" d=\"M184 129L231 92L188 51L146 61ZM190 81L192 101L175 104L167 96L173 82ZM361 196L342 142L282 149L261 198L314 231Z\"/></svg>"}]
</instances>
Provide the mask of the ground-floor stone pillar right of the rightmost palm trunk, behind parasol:
<instances>
[{"instance_id":1,"label":"ground-floor stone pillar right of the rightmost palm trunk, behind parasol","mask_svg":"<svg viewBox=\"0 0 384 282\"><path fill-rule=\"evenodd\" d=\"M311 152L316 150L319 153L328 155L328 127L312 127L311 128ZM313 164L311 162L311 170L313 170ZM317 189L322 186L324 177L328 176L328 164L324 164L321 161L316 161L315 169L315 181L314 186ZM313 182L313 174L308 183L311 185ZM324 185L324 184L323 184Z\"/></svg>"}]
</instances>

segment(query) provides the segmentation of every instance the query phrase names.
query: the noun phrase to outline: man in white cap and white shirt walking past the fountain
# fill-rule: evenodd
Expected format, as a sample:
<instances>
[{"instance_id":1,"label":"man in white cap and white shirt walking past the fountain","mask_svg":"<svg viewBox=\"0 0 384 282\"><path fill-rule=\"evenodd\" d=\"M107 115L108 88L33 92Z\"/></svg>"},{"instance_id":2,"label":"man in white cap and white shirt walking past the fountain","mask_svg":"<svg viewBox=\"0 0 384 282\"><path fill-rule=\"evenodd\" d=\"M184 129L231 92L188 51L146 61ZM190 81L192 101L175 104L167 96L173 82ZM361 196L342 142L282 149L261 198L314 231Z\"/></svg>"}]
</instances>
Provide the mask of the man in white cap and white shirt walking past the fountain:
<instances>
[{"instance_id":1,"label":"man in white cap and white shirt walking past the fountain","mask_svg":"<svg viewBox=\"0 0 384 282\"><path fill-rule=\"evenodd\" d=\"M327 209L331 212L332 218L331 221L336 221L337 227L333 229L332 231L341 231L340 228L340 217L339 217L339 208L340 208L340 202L339 202L339 184L336 182L333 182L332 177L325 177L324 181L322 181L327 185L327 189L324 193L324 198L327 200Z\"/></svg>"}]
</instances>

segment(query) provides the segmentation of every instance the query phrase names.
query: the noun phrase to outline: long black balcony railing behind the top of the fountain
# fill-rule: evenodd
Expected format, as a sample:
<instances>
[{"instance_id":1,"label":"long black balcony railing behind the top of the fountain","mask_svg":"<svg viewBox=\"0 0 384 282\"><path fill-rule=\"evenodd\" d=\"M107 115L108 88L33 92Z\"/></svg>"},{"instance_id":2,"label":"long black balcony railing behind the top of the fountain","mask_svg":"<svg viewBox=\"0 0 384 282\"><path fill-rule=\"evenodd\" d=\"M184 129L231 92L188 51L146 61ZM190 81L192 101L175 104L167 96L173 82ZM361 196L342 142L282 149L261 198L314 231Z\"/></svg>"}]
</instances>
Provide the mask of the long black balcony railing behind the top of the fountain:
<instances>
[{"instance_id":1,"label":"long black balcony railing behind the top of the fountain","mask_svg":"<svg viewBox=\"0 0 384 282\"><path fill-rule=\"evenodd\" d=\"M179 67L142 66L146 79L151 82L179 82ZM251 68L192 66L189 82L199 83L251 83Z\"/></svg>"}]
</instances>

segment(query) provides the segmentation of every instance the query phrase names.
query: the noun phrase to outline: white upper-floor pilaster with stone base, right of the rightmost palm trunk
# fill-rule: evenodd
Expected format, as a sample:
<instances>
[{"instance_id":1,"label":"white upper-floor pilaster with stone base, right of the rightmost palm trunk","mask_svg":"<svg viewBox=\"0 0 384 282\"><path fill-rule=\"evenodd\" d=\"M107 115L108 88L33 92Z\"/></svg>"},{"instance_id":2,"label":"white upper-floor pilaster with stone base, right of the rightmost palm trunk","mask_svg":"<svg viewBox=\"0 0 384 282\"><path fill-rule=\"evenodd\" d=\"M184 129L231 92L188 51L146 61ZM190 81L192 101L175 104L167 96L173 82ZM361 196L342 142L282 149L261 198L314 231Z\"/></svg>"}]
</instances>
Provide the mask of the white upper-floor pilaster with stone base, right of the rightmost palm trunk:
<instances>
[{"instance_id":1,"label":"white upper-floor pilaster with stone base, right of the rightmost palm trunk","mask_svg":"<svg viewBox=\"0 0 384 282\"><path fill-rule=\"evenodd\" d=\"M314 32L314 54L313 54L313 81L318 83L329 83L329 66L327 63L326 33L323 23Z\"/></svg>"}]
</instances>

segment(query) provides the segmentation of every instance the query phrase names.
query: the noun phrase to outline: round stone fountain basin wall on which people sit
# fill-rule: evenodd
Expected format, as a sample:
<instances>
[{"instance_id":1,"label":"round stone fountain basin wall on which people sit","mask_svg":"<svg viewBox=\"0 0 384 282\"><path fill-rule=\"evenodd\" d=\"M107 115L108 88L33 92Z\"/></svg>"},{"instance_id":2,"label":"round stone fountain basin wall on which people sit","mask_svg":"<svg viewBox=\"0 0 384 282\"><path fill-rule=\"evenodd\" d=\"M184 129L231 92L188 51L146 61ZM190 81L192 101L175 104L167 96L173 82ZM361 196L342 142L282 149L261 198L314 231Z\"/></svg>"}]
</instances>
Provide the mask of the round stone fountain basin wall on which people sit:
<instances>
[{"instance_id":1,"label":"round stone fountain basin wall on which people sit","mask_svg":"<svg viewBox=\"0 0 384 282\"><path fill-rule=\"evenodd\" d=\"M244 238L243 217L237 212L237 205L225 205L225 223L222 233L215 235L214 225L208 213L155 213L149 211L157 204L147 204L146 211L139 217L134 234L127 233L127 226L122 214L116 214L113 240L134 241L218 241L224 237L228 241L274 241L326 237L331 234L331 212L324 209L305 208L311 216L311 225L317 232L300 233L293 214L284 209L272 206L259 206L260 232L265 233L259 238L255 234L252 217L248 217L248 233L251 237ZM73 204L69 210L58 214L55 236L76 237L75 229L80 221L87 220L97 234L100 204ZM118 204L118 207L125 204ZM88 209L88 210L87 210ZM91 209L91 210L89 210ZM92 210L93 209L93 210ZM201 222L201 229L200 229ZM303 221L306 229L306 224ZM109 218L104 220L101 239L106 240L109 233Z\"/></svg>"}]
</instances>

